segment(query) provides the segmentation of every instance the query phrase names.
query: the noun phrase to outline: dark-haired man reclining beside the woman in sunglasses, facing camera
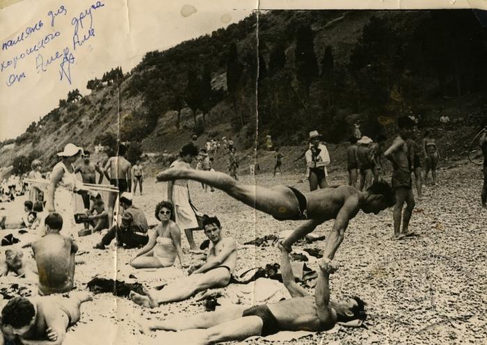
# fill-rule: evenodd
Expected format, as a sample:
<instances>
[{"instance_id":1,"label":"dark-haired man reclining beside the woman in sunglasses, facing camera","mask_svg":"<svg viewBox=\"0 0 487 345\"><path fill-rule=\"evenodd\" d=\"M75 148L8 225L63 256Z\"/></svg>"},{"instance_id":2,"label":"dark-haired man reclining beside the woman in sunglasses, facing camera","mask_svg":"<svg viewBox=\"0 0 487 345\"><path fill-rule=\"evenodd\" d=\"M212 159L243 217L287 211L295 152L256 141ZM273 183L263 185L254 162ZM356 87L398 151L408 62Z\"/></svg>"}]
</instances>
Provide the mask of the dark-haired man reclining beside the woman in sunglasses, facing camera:
<instances>
[{"instance_id":1,"label":"dark-haired man reclining beside the woman in sunglasses, facing camera","mask_svg":"<svg viewBox=\"0 0 487 345\"><path fill-rule=\"evenodd\" d=\"M227 286L237 262L237 243L230 237L222 239L220 220L216 217L203 218L203 227L211 241L206 262L198 265L198 269L190 268L188 277L166 285L161 291L145 291L147 296L131 291L131 300L154 308L162 303L185 300L199 291Z\"/></svg>"}]
</instances>

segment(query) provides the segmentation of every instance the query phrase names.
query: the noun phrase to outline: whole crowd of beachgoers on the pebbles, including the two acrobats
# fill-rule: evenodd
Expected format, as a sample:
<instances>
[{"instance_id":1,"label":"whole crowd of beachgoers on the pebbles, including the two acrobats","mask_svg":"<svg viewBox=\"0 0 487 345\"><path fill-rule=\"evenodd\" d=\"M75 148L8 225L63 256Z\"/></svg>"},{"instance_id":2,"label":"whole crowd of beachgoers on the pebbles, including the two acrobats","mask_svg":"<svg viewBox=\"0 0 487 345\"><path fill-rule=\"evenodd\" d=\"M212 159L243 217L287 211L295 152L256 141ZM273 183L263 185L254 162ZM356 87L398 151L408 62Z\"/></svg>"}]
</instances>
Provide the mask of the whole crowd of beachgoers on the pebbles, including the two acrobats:
<instances>
[{"instance_id":1,"label":"whole crowd of beachgoers on the pebbles, including the two acrobats","mask_svg":"<svg viewBox=\"0 0 487 345\"><path fill-rule=\"evenodd\" d=\"M57 295L74 288L76 254L78 241L81 241L77 237L83 234L76 231L79 223L83 223L85 231L106 230L94 246L97 250L106 250L114 239L120 249L138 248L127 263L133 268L170 267L177 259L179 266L187 269L187 276L166 284L163 289L144 289L143 294L131 291L129 298L137 305L155 308L191 298L206 289L227 287L237 266L237 241L225 234L218 216L207 216L196 209L191 201L189 180L199 182L205 191L208 187L210 191L221 190L276 220L299 221L294 231L277 243L282 282L292 298L253 307L234 305L205 315L142 321L142 332L191 332L198 344L214 344L253 335L272 335L280 330L328 330L337 322L365 319L367 313L362 299L330 300L330 274L338 269L334 257L344 241L350 221L359 211L378 214L394 207L392 239L413 236L408 228L415 207L412 175L415 175L417 196L422 199L422 157L426 163L425 177L431 170L432 183L438 183L436 169L440 154L431 131L426 131L421 145L417 145L413 119L408 116L399 118L397 128L397 136L386 147L385 136L377 136L375 142L361 133L358 138L360 128L355 127L346 150L349 183L341 186L328 184L326 167L330 164L330 154L319 132L310 131L305 151L298 157L304 157L306 162L310 191L305 193L293 186L268 188L240 182L237 174L239 158L231 138L208 141L201 149L188 143L170 168L156 176L157 182L167 183L167 195L161 195L161 201L154 205L154 216L159 223L153 228L133 198L136 186L139 186L139 193L143 193L143 166L140 160L132 166L125 159L125 145L120 144L118 153L109 157L102 167L90 162L90 152L69 143L58 153L59 161L49 173L49 180L43 179L46 175L40 172L42 162L33 161L27 185L22 178L12 177L2 182L3 194L26 193L29 189L30 200L24 202L24 210L18 219L1 216L0 227L38 230L38 239L30 243L34 264L29 262L29 255L24 255L24 249L13 246L6 250L5 259L0 261L0 276L33 275L38 280L39 296L15 297L3 306L0 344L4 341L62 344L67 328L79 321L79 307L91 300L91 296L84 292L72 293L69 298ZM484 154L481 204L486 207L487 127L479 134L479 146ZM221 147L229 159L225 172L213 168L215 154ZM284 158L276 147L273 175L277 170L281 172ZM80 159L81 163L77 164ZM383 159L392 163L392 184L386 182L388 171ZM197 161L196 168L191 167L193 161ZM77 179L77 173L81 174L81 180ZM111 187L102 185L104 177ZM106 205L103 191L109 195ZM73 202L78 194L83 200L81 214L76 212ZM289 255L294 243L328 221L333 221L333 228L326 237L312 295L294 280ZM189 243L186 253L182 250L182 230ZM207 236L206 250L200 249L193 238L193 232L199 230ZM188 255L202 256L198 264L190 266Z\"/></svg>"}]
</instances>

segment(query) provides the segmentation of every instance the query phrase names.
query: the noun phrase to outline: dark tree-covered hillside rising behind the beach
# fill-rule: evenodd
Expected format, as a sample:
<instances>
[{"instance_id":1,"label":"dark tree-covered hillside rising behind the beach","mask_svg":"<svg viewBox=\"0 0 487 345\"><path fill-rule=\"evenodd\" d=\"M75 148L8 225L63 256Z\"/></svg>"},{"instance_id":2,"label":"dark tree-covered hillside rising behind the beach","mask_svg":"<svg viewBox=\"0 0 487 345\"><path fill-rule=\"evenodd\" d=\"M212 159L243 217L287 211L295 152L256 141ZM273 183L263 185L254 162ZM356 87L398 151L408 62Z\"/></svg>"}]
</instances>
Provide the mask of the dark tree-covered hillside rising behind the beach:
<instances>
[{"instance_id":1,"label":"dark tree-covered hillside rising behind the beach","mask_svg":"<svg viewBox=\"0 0 487 345\"><path fill-rule=\"evenodd\" d=\"M454 135L439 139L459 154L486 118L486 42L470 10L283 10L258 26L252 15L88 81L89 95L60 100L1 143L0 166L35 150L49 169L65 143L93 151L107 131L154 153L175 153L197 134L197 145L227 136L252 154L257 138L265 157L267 134L299 151L308 131L340 143L355 121L390 137L404 113L420 115L420 128L449 115Z\"/></svg>"}]
</instances>

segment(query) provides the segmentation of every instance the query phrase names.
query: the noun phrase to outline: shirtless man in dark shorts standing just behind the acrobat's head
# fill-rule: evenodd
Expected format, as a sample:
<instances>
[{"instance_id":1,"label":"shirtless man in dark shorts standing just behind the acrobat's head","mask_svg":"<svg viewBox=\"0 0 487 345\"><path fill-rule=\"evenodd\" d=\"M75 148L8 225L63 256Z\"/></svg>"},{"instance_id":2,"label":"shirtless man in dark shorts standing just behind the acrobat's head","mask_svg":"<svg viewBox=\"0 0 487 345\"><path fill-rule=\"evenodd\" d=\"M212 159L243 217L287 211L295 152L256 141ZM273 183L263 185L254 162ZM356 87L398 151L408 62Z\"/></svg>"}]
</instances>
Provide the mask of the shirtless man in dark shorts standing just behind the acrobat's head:
<instances>
[{"instance_id":1,"label":"shirtless man in dark shorts standing just behind the acrobat's head","mask_svg":"<svg viewBox=\"0 0 487 345\"><path fill-rule=\"evenodd\" d=\"M385 158L392 162L392 188L396 193L396 204L394 205L394 237L393 239L402 239L404 236L411 235L408 230L409 220L415 207L413 195L413 183L411 180L411 171L409 165L408 138L413 135L415 122L408 116L402 116L397 120L399 135L394 139L392 145L385 151ZM404 202L406 209L402 214ZM401 232L401 214L402 214L402 232Z\"/></svg>"}]
</instances>

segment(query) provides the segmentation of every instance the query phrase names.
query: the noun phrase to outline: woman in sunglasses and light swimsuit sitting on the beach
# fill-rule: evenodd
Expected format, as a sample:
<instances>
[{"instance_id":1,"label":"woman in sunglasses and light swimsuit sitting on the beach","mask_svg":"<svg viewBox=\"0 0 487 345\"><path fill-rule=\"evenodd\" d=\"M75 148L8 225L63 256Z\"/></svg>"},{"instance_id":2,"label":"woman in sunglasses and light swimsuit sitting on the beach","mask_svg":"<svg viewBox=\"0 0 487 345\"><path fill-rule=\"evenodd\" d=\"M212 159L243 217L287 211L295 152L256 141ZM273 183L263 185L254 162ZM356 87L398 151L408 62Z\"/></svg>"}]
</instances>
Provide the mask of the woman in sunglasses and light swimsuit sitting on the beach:
<instances>
[{"instance_id":1,"label":"woman in sunglasses and light swimsuit sitting on the beach","mask_svg":"<svg viewBox=\"0 0 487 345\"><path fill-rule=\"evenodd\" d=\"M174 219L174 207L171 202L161 201L156 205L155 216L161 223L149 233L149 241L131 259L134 268L161 268L173 266L176 255L182 267L184 256L181 249L181 230ZM172 219L171 219L172 218Z\"/></svg>"}]
</instances>

